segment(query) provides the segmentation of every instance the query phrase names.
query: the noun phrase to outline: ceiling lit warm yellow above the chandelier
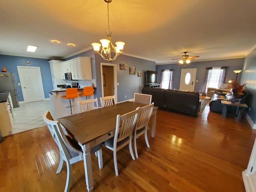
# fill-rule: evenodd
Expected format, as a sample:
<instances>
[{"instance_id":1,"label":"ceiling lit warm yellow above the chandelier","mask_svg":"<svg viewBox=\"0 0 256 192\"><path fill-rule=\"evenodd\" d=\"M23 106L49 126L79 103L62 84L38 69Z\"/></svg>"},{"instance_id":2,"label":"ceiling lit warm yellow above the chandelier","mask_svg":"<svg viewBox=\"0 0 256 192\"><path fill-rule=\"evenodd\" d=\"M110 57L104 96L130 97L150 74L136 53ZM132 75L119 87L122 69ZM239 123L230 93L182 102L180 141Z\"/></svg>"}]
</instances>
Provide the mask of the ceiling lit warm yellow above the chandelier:
<instances>
[{"instance_id":1,"label":"ceiling lit warm yellow above the chandelier","mask_svg":"<svg viewBox=\"0 0 256 192\"><path fill-rule=\"evenodd\" d=\"M185 51L200 56L194 61L243 58L256 48L255 8L256 0L112 0L110 31L124 54L156 64L177 63ZM107 30L104 0L1 0L0 54L63 59Z\"/></svg>"}]
</instances>

